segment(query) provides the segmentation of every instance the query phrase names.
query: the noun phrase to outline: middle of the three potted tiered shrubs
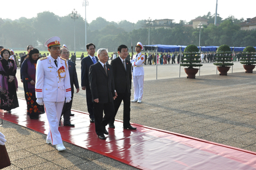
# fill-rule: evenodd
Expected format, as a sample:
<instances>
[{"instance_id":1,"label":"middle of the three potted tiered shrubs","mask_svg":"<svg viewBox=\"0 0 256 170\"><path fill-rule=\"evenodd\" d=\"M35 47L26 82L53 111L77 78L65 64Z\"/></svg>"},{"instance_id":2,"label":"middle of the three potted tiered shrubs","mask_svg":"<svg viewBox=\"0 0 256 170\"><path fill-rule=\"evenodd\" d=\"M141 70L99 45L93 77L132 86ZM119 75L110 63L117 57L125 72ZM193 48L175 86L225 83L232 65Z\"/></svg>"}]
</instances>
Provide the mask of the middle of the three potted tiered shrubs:
<instances>
[{"instance_id":1,"label":"middle of the three potted tiered shrubs","mask_svg":"<svg viewBox=\"0 0 256 170\"><path fill-rule=\"evenodd\" d=\"M221 45L217 49L216 54L216 63L213 64L217 66L220 76L227 76L230 66L234 65L234 63L229 63L233 62L230 47L228 45Z\"/></svg>"}]
</instances>

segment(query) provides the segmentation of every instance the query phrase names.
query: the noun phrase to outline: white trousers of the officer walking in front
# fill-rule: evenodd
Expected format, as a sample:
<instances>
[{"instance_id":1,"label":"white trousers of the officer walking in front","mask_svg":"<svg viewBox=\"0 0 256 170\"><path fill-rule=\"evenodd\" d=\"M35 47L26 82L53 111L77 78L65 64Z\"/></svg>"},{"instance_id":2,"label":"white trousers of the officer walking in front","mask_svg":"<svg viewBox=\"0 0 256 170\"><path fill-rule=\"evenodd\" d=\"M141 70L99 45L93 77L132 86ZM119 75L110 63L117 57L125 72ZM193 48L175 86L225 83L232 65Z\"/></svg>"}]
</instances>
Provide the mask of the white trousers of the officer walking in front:
<instances>
[{"instance_id":1,"label":"white trousers of the officer walking in front","mask_svg":"<svg viewBox=\"0 0 256 170\"><path fill-rule=\"evenodd\" d=\"M49 122L49 132L47 140L52 141L52 144L60 144L62 142L61 133L58 131L58 124L61 119L61 112L64 102L43 102L45 104L45 112Z\"/></svg>"}]
</instances>

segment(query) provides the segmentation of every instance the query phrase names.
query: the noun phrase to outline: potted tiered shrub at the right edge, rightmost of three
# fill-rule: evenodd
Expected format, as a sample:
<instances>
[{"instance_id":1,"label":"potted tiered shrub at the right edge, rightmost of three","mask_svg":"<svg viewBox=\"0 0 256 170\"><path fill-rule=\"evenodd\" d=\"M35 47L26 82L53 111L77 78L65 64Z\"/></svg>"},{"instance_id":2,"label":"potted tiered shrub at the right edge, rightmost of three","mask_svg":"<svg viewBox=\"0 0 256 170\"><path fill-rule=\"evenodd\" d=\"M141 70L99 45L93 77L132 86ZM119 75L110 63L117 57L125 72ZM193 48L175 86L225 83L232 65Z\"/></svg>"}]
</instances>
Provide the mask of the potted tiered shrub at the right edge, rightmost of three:
<instances>
[{"instance_id":1,"label":"potted tiered shrub at the right edge, rightmost of three","mask_svg":"<svg viewBox=\"0 0 256 170\"><path fill-rule=\"evenodd\" d=\"M245 73L253 73L253 69L255 68L256 59L255 59L255 48L252 46L245 47L241 57L241 64L245 69Z\"/></svg>"}]
</instances>

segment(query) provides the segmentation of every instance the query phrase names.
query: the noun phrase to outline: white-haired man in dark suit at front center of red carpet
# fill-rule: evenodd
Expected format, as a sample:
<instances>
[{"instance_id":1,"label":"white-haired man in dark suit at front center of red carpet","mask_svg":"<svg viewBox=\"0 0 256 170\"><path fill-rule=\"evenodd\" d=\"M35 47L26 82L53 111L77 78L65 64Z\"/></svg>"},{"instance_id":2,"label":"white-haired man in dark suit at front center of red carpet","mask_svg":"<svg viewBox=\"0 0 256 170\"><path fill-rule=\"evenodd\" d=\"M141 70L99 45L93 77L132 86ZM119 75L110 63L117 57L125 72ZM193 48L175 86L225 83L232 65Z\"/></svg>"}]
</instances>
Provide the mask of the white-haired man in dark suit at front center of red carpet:
<instances>
[{"instance_id":1,"label":"white-haired man in dark suit at front center of red carpet","mask_svg":"<svg viewBox=\"0 0 256 170\"><path fill-rule=\"evenodd\" d=\"M113 103L113 99L116 98L115 85L112 67L106 64L109 58L107 49L98 49L97 56L99 62L90 67L89 82L94 105L95 131L100 139L106 139L104 134L109 134L106 126L115 113Z\"/></svg>"}]
</instances>

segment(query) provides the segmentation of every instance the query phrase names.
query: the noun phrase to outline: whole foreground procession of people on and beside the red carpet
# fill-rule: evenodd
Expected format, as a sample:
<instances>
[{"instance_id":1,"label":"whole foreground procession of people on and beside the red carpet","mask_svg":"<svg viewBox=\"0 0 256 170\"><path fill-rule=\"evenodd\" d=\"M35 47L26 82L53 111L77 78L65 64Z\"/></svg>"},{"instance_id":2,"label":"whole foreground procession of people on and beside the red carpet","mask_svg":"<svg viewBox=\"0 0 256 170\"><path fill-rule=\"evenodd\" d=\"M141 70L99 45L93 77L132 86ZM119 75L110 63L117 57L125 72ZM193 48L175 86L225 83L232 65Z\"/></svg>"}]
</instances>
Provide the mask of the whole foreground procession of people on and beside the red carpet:
<instances>
[{"instance_id":1,"label":"whole foreground procession of people on and beside the red carpet","mask_svg":"<svg viewBox=\"0 0 256 170\"><path fill-rule=\"evenodd\" d=\"M31 119L38 119L42 113L47 113L49 132L46 143L56 145L58 151L65 148L58 131L63 114L64 126L71 124L70 116L74 85L79 92L75 63L69 61L70 53L66 46L61 48L60 38L51 37L45 43L49 56L40 58L40 52L33 46L28 46L28 54L21 57L21 81L27 102L27 114ZM87 108L90 122L95 123L95 131L100 139L106 139L107 124L115 128L115 116L124 102L124 129L136 130L130 124L130 102L142 102L145 56L144 48L137 43L136 54L130 59L128 48L124 44L117 49L118 57L109 60L108 51L100 48L95 56L95 45L86 45L88 56L81 61L81 85L86 90ZM2 56L2 57L1 57ZM18 107L16 78L17 66L9 59L8 49L1 50L0 80L1 109L11 113ZM127 59L129 57L129 59ZM134 99L131 101L131 79L133 77ZM44 106L44 107L43 107ZM104 111L104 114L103 114Z\"/></svg>"}]
</instances>

